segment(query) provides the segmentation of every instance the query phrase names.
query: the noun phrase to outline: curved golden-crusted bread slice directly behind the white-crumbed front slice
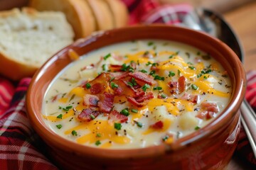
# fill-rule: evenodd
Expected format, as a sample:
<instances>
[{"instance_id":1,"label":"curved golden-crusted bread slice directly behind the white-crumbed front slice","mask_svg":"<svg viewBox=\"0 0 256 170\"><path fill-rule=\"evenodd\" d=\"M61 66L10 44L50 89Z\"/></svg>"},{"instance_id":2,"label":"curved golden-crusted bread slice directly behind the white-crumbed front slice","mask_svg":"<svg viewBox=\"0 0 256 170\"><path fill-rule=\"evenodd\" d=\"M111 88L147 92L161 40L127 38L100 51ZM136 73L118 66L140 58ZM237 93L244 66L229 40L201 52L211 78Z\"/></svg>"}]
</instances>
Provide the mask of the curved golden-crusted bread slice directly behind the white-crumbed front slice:
<instances>
[{"instance_id":1,"label":"curved golden-crusted bread slice directly behind the white-crumbed front slice","mask_svg":"<svg viewBox=\"0 0 256 170\"><path fill-rule=\"evenodd\" d=\"M38 11L62 11L75 31L75 39L96 30L95 18L85 0L31 0L29 6Z\"/></svg>"}]
</instances>

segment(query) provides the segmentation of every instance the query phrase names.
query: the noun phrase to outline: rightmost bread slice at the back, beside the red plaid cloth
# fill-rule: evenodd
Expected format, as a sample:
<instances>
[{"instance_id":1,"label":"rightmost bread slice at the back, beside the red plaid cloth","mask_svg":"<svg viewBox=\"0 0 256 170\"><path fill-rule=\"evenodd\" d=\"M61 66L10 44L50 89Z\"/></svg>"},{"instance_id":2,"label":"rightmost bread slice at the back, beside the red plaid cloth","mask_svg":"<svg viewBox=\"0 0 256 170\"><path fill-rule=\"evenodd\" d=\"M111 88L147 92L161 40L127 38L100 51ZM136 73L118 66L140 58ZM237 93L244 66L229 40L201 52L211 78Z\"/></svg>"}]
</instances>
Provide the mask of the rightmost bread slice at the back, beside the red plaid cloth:
<instances>
[{"instance_id":1,"label":"rightmost bread slice at the back, beside the red plaid cloth","mask_svg":"<svg viewBox=\"0 0 256 170\"><path fill-rule=\"evenodd\" d=\"M114 28L127 26L128 23L128 9L120 0L105 0L112 12L114 18Z\"/></svg>"}]
</instances>

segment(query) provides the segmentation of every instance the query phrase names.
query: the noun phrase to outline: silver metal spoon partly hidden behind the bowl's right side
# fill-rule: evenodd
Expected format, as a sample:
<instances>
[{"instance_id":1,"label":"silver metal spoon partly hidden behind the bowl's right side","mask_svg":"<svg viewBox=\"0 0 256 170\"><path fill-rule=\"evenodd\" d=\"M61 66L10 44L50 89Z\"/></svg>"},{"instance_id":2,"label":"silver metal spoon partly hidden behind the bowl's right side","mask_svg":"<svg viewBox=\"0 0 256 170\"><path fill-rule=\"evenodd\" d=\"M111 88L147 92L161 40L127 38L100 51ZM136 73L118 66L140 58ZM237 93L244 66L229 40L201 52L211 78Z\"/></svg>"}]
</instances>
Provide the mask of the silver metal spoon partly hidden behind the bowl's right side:
<instances>
[{"instance_id":1,"label":"silver metal spoon partly hidden behind the bowl's right side","mask_svg":"<svg viewBox=\"0 0 256 170\"><path fill-rule=\"evenodd\" d=\"M238 37L223 17L217 13L213 13L213 11L204 8L196 8L183 18L182 25L195 30L203 30L219 38L225 42L243 62L244 52ZM242 125L256 157L256 114L245 99L242 102L240 111Z\"/></svg>"}]
</instances>

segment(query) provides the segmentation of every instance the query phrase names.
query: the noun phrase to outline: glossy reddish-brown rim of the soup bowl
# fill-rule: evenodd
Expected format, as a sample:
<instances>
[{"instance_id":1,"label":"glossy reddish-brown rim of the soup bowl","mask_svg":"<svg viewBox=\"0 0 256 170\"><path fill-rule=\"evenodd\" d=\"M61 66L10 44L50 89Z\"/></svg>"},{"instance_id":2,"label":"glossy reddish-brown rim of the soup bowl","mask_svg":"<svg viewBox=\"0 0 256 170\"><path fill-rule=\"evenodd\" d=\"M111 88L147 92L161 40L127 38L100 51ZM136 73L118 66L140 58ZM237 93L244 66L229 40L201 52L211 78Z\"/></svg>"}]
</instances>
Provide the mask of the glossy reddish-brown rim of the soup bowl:
<instances>
[{"instance_id":1,"label":"glossy reddish-brown rim of the soup bowl","mask_svg":"<svg viewBox=\"0 0 256 170\"><path fill-rule=\"evenodd\" d=\"M92 34L87 38L83 38L80 40L77 40L72 45L69 45L68 47L63 48L63 50L60 50L57 52L53 57L50 57L50 59L43 64L43 66L38 69L36 74L33 76L33 79L31 80L31 84L28 87L28 92L26 95L26 108L28 111L28 118L31 122L32 127L40 137L43 138L43 140L50 146L50 147L56 147L58 149L65 150L67 152L72 152L80 155L88 155L90 157L101 157L101 158L118 158L118 159L127 159L129 157L149 157L156 155L161 155L166 152L172 152L179 149L182 149L186 145L190 145L194 142L198 142L203 139L203 137L207 137L215 132L215 130L218 130L220 128L225 127L225 124L232 120L233 116L235 115L234 111L238 111L240 104L242 103L242 98L245 95L245 70L242 67L242 63L240 62L239 58L231 57L233 64L235 64L236 67L239 69L235 70L235 83L237 86L233 89L233 95L231 97L230 103L228 104L228 107L218 115L214 121L206 125L205 127L201 128L200 130L191 133L190 135L186 135L185 137L181 137L180 139L176 140L174 144L171 145L157 145L157 146L151 146L151 147L145 147L145 148L136 148L136 149L102 149L97 147L89 147L85 145L80 145L78 143L72 142L70 140L66 140L63 137L60 137L59 135L55 134L52 130L49 130L49 128L46 128L45 125L42 123L40 113L35 113L35 109L33 108L33 105L36 103L34 102L33 94L35 93L36 85L38 84L38 81L41 80L43 77L43 73L46 72L46 69L50 67L51 64L57 61L58 57L68 52L68 49L76 50L80 47L83 47L85 45L90 45L90 43L95 42L96 40L100 40L100 38L104 36L112 36L112 35L118 35L120 33L126 33L130 30L139 30L139 31L147 31L147 30L169 30L169 31L176 31L178 30L178 33L191 33L195 34L195 36L204 38L204 40L208 40L209 43L213 43L216 45L216 47L223 48L225 50L225 53L230 56L236 56L235 52L228 47L228 45L225 45L224 42L221 42L217 38L213 38L210 35L199 32L197 30L191 30L188 28L181 28L178 26L166 26L162 24L156 24L151 26L131 26L127 28L118 28L114 30L106 30L106 31L100 31L98 33ZM149 37L150 38L150 37ZM110 45L110 44L109 44ZM43 95L44 96L44 95ZM238 98L235 98L234 96L240 96Z\"/></svg>"}]
</instances>

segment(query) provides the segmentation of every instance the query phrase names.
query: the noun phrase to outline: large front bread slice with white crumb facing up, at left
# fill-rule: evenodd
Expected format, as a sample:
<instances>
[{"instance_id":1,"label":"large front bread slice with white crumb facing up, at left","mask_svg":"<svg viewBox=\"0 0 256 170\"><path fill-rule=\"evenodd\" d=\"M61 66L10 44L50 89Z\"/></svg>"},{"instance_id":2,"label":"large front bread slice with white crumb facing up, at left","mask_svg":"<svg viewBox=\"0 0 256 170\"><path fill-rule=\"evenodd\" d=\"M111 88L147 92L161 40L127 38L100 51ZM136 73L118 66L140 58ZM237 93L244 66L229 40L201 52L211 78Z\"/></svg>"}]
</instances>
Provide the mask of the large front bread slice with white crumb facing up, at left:
<instances>
[{"instance_id":1,"label":"large front bread slice with white crumb facing up, at left","mask_svg":"<svg viewBox=\"0 0 256 170\"><path fill-rule=\"evenodd\" d=\"M60 12L15 8L0 13L0 74L18 80L33 76L55 52L73 42Z\"/></svg>"}]
</instances>

